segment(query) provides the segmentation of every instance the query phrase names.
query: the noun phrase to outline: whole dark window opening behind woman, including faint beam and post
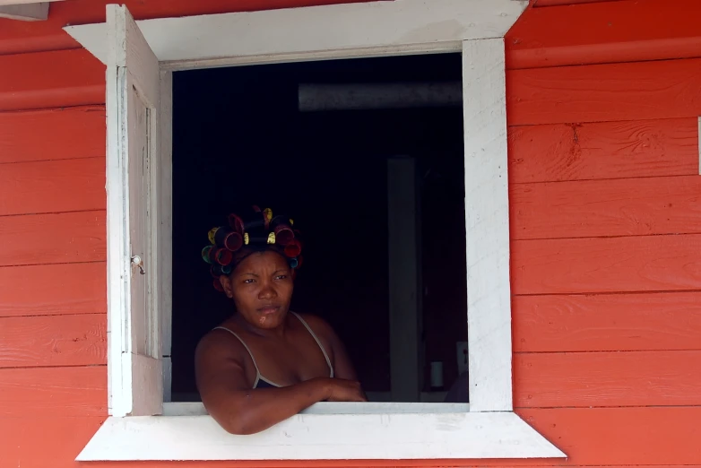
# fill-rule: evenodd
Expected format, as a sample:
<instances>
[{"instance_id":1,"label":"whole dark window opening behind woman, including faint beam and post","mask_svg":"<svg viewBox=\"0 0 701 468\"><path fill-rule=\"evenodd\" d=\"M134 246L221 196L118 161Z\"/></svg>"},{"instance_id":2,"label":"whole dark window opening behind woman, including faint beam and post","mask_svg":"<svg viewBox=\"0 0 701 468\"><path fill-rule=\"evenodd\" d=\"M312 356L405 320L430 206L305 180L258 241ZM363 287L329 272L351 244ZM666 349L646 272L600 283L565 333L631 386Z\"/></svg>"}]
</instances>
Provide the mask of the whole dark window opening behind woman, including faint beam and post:
<instances>
[{"instance_id":1,"label":"whole dark window opening behind woman, including faint beam and post","mask_svg":"<svg viewBox=\"0 0 701 468\"><path fill-rule=\"evenodd\" d=\"M292 308L340 334L371 402L468 403L462 68L449 53L173 73L172 402L200 401L195 346L231 314L203 233L255 203L304 231Z\"/></svg>"}]
</instances>

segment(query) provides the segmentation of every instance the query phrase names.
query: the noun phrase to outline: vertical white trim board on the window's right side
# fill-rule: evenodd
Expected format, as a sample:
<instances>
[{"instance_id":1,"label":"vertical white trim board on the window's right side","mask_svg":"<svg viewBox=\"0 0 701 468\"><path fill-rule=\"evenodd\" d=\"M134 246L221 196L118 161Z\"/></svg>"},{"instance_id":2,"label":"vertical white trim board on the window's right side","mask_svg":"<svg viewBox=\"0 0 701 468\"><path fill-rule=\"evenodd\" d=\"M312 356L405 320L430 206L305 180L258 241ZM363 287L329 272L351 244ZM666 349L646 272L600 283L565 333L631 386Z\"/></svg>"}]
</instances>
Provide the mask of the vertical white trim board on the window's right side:
<instances>
[{"instance_id":1,"label":"vertical white trim board on the window's right side","mask_svg":"<svg viewBox=\"0 0 701 468\"><path fill-rule=\"evenodd\" d=\"M472 411L512 410L504 39L463 47L468 369Z\"/></svg>"}]
</instances>

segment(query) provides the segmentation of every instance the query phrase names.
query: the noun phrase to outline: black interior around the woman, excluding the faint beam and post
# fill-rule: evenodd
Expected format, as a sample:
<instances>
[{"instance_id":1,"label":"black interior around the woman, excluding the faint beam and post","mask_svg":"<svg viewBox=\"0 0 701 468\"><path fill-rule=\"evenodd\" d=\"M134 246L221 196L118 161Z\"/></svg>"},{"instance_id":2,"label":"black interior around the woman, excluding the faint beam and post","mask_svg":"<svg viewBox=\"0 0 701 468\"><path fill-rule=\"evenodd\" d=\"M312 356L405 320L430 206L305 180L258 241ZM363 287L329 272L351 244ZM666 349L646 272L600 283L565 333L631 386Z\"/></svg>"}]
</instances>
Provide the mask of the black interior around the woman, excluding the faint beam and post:
<instances>
[{"instance_id":1,"label":"black interior around the woman, excluding the faint beam and post","mask_svg":"<svg viewBox=\"0 0 701 468\"><path fill-rule=\"evenodd\" d=\"M462 108L300 112L298 83L460 74L457 54L174 74L174 401L196 399L196 343L233 312L200 257L207 231L251 204L304 232L293 308L333 325L366 391L389 391L386 159L398 155L420 168L424 390L432 360L453 383L467 340Z\"/></svg>"}]
</instances>

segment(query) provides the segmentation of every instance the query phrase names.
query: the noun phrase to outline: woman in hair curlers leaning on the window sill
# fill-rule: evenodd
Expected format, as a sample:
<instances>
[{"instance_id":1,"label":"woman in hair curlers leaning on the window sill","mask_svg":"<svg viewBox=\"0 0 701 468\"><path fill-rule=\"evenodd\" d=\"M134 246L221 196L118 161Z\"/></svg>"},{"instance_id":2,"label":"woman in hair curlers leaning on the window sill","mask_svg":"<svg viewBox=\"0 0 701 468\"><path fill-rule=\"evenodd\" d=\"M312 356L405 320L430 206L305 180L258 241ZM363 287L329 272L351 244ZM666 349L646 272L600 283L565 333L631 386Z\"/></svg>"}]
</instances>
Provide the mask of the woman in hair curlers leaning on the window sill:
<instances>
[{"instance_id":1,"label":"woman in hair curlers leaning on the window sill","mask_svg":"<svg viewBox=\"0 0 701 468\"><path fill-rule=\"evenodd\" d=\"M254 207L210 231L203 259L235 312L197 346L204 407L232 434L253 434L321 402L363 402L355 370L331 326L290 310L301 264L292 220Z\"/></svg>"}]
</instances>

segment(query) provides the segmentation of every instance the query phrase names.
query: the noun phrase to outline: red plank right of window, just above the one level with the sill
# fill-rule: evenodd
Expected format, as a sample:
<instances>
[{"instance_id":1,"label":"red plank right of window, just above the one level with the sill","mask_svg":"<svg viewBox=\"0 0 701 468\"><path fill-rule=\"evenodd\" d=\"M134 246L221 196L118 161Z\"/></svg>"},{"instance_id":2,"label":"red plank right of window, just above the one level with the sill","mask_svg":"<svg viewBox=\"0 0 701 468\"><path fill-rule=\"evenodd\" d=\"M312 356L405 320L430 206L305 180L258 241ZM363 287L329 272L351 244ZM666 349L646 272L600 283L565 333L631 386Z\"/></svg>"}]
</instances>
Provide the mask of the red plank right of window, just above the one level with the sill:
<instances>
[{"instance_id":1,"label":"red plank right of window, just above the one level with the sill","mask_svg":"<svg viewBox=\"0 0 701 468\"><path fill-rule=\"evenodd\" d=\"M519 353L514 406L699 406L699 368L701 351Z\"/></svg>"}]
</instances>

